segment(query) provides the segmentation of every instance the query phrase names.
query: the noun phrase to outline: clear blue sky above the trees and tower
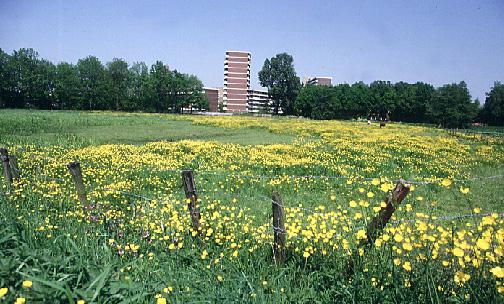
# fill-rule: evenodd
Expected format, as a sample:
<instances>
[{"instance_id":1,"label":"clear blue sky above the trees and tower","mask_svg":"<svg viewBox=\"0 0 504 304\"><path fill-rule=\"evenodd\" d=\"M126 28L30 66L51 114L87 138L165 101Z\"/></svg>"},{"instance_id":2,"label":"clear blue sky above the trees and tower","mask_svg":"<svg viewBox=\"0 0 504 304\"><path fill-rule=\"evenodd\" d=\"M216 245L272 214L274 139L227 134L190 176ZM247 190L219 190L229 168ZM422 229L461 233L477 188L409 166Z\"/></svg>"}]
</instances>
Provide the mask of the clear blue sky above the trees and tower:
<instances>
[{"instance_id":1,"label":"clear blue sky above the trees and tower","mask_svg":"<svg viewBox=\"0 0 504 304\"><path fill-rule=\"evenodd\" d=\"M301 78L464 80L483 101L504 81L504 0L0 0L0 48L23 47L54 63L162 60L206 86L222 86L226 50L244 50L255 88L264 60L287 52Z\"/></svg>"}]
</instances>

